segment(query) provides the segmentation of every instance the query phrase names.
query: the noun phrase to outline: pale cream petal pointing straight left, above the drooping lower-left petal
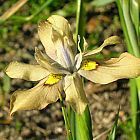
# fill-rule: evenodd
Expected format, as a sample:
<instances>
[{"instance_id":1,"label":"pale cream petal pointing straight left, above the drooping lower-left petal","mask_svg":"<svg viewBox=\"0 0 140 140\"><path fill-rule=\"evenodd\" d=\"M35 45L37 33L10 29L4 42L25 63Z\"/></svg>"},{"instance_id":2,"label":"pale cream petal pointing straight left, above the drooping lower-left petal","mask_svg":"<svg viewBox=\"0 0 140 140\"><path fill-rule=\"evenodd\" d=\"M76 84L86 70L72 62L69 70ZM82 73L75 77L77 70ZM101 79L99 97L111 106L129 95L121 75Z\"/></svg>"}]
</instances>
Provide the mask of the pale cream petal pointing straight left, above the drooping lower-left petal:
<instances>
[{"instance_id":1,"label":"pale cream petal pointing straight left, above the drooping lower-left petal","mask_svg":"<svg viewBox=\"0 0 140 140\"><path fill-rule=\"evenodd\" d=\"M19 62L11 62L5 72L11 78L20 78L28 81L38 81L49 75L49 72L40 65L29 65Z\"/></svg>"}]
</instances>

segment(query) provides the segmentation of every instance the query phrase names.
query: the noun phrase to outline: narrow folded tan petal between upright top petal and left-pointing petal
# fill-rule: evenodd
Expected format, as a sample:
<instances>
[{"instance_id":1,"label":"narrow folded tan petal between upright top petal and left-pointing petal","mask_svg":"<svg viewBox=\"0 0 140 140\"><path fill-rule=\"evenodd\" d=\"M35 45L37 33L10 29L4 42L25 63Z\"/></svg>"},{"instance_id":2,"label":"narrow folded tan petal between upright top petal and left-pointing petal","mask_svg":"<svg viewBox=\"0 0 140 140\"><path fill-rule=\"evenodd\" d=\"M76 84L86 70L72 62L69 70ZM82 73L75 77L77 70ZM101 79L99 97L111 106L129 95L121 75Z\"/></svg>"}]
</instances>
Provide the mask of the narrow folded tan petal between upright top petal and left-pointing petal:
<instances>
[{"instance_id":1,"label":"narrow folded tan petal between upright top petal and left-pointing petal","mask_svg":"<svg viewBox=\"0 0 140 140\"><path fill-rule=\"evenodd\" d=\"M43 55L38 48L35 48L35 59L42 67L46 68L51 73L69 74L69 72L65 68L51 59L47 54Z\"/></svg>"}]
</instances>

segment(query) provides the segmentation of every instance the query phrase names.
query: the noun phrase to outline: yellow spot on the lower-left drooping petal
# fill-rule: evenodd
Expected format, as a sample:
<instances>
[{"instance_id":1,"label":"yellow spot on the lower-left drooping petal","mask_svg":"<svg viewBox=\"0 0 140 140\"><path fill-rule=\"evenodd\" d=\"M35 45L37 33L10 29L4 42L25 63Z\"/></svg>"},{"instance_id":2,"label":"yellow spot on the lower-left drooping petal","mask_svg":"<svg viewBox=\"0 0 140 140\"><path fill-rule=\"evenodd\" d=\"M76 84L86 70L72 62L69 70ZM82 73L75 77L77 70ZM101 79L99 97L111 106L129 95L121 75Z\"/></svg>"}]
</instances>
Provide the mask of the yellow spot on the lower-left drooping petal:
<instances>
[{"instance_id":1,"label":"yellow spot on the lower-left drooping petal","mask_svg":"<svg viewBox=\"0 0 140 140\"><path fill-rule=\"evenodd\" d=\"M48 79L45 81L45 85L53 85L58 83L62 79L60 74L49 74Z\"/></svg>"}]
</instances>

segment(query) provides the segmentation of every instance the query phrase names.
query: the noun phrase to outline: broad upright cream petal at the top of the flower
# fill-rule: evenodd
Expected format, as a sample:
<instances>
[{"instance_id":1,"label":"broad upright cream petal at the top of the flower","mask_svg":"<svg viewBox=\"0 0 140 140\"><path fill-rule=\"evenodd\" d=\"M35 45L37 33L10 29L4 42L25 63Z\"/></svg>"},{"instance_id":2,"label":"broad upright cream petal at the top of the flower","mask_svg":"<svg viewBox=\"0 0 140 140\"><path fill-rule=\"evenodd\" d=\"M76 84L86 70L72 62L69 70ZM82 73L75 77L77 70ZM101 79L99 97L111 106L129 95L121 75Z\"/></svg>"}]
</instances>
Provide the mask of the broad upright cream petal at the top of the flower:
<instances>
[{"instance_id":1,"label":"broad upright cream petal at the top of the flower","mask_svg":"<svg viewBox=\"0 0 140 140\"><path fill-rule=\"evenodd\" d=\"M54 34L54 30L60 34L61 38L67 36L69 39L69 47L72 53L75 54L76 47L73 41L70 25L65 18L58 15L51 16L48 18L48 21L40 22L38 26L38 34L45 47L46 53L52 59L57 60L57 51L59 50L59 46L54 43L54 38L60 38L60 36L58 36L58 34Z\"/></svg>"}]
</instances>

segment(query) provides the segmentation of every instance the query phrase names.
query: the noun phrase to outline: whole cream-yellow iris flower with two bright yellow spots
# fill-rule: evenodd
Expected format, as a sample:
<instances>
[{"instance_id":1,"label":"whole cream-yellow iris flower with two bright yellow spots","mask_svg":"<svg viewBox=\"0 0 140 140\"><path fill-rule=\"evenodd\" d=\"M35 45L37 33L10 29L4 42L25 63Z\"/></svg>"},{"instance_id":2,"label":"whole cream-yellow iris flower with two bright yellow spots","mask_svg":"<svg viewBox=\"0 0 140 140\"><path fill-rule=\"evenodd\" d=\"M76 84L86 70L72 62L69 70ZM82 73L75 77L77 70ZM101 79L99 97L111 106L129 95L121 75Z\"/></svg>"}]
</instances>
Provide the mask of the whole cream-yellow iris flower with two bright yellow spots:
<instances>
[{"instance_id":1,"label":"whole cream-yellow iris flower with two bright yellow spots","mask_svg":"<svg viewBox=\"0 0 140 140\"><path fill-rule=\"evenodd\" d=\"M79 49L80 53L77 54L70 25L58 15L40 22L38 34L46 52L43 54L38 48L35 49L38 64L11 62L6 69L11 78L40 81L29 90L17 90L13 93L10 114L18 110L43 109L56 102L63 91L66 102L82 114L88 101L81 76L95 83L108 84L121 78L140 75L140 59L129 53L104 62L94 58L104 47L120 44L117 36L107 38L99 48L92 51L87 50L84 40L84 51Z\"/></svg>"}]
</instances>

